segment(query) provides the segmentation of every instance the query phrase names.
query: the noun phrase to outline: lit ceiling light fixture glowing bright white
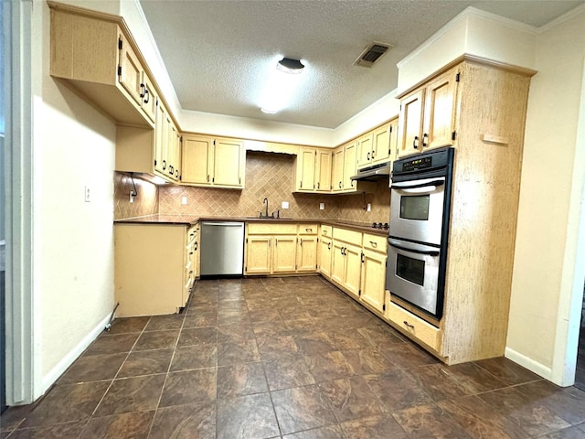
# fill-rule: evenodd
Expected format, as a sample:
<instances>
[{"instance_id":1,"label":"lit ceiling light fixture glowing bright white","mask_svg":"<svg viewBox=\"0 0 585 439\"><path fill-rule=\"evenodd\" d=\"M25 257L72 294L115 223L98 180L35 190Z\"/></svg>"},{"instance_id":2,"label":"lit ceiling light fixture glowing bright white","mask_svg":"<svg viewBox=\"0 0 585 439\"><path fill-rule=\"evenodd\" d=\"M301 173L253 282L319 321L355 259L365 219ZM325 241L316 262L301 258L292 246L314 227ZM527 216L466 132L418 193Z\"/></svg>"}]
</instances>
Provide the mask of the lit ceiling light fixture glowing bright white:
<instances>
[{"instance_id":1,"label":"lit ceiling light fixture glowing bright white","mask_svg":"<svg viewBox=\"0 0 585 439\"><path fill-rule=\"evenodd\" d=\"M280 112L291 100L298 87L299 73L304 69L300 59L282 58L272 70L262 93L261 111L267 114Z\"/></svg>"}]
</instances>

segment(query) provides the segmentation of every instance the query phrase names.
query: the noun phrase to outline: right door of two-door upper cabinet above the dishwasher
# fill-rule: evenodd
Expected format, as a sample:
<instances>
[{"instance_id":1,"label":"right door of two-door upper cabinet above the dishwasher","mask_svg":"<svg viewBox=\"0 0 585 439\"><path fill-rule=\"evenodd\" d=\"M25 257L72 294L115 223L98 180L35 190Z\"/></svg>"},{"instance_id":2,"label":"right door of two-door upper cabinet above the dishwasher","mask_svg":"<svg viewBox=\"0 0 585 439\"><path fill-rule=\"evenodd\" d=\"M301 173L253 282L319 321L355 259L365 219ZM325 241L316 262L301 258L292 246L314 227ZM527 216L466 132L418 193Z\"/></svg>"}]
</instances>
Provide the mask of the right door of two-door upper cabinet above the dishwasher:
<instances>
[{"instance_id":1,"label":"right door of two-door upper cabinet above the dishwasher","mask_svg":"<svg viewBox=\"0 0 585 439\"><path fill-rule=\"evenodd\" d=\"M242 187L246 155L240 140L216 139L214 186Z\"/></svg>"}]
</instances>

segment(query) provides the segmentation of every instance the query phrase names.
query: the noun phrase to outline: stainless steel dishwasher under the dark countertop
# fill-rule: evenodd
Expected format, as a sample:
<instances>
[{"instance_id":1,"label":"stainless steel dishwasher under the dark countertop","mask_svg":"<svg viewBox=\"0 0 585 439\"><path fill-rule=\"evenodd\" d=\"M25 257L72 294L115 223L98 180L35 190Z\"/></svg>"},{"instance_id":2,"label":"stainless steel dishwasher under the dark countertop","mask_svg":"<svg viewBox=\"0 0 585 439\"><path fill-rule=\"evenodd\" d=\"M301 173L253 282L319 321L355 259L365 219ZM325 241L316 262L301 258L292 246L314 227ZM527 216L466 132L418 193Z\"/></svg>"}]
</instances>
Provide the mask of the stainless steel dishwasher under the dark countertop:
<instances>
[{"instance_id":1,"label":"stainless steel dishwasher under the dark countertop","mask_svg":"<svg viewBox=\"0 0 585 439\"><path fill-rule=\"evenodd\" d=\"M244 223L201 223L201 276L241 276L244 273Z\"/></svg>"}]
</instances>

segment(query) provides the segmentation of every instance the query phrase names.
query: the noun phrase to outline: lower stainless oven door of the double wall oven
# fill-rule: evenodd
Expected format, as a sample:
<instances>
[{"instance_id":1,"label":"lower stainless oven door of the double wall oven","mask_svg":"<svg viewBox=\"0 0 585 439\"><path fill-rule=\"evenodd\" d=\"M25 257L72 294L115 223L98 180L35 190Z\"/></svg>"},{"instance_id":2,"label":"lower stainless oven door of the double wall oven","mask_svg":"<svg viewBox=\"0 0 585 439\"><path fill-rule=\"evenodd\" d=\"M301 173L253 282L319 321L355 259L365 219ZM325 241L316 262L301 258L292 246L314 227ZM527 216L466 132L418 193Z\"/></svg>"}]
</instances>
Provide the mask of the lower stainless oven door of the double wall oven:
<instances>
[{"instance_id":1,"label":"lower stainless oven door of the double wall oven","mask_svg":"<svg viewBox=\"0 0 585 439\"><path fill-rule=\"evenodd\" d=\"M386 289L429 315L440 319L438 247L388 239Z\"/></svg>"}]
</instances>

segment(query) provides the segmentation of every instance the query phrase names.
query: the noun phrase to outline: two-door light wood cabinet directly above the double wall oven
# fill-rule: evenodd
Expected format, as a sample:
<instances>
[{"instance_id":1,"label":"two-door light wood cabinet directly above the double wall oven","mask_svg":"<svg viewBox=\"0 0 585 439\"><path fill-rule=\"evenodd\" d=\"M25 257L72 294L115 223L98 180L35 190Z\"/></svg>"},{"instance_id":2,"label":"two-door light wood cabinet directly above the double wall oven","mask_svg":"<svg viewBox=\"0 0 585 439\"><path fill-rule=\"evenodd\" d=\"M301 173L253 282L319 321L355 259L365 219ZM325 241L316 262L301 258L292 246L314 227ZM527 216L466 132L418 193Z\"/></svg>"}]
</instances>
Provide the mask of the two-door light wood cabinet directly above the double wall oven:
<instances>
[{"instance_id":1,"label":"two-door light wood cabinet directly above the double wall oven","mask_svg":"<svg viewBox=\"0 0 585 439\"><path fill-rule=\"evenodd\" d=\"M458 82L455 67L400 100L399 157L453 145Z\"/></svg>"}]
</instances>

